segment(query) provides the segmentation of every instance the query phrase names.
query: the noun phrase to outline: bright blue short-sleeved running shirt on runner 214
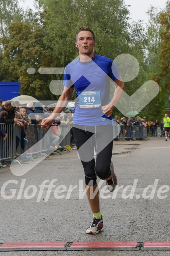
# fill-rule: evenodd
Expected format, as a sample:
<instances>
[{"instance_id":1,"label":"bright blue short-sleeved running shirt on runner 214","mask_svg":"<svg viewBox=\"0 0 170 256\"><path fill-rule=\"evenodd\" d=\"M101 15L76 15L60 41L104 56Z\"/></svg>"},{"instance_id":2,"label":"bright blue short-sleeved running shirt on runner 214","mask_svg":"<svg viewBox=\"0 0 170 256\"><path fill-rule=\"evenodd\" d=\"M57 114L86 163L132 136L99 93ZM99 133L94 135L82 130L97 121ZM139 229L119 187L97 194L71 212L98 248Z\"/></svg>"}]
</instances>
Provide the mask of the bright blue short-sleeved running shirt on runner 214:
<instances>
[{"instance_id":1,"label":"bright blue short-sleeved running shirt on runner 214","mask_svg":"<svg viewBox=\"0 0 170 256\"><path fill-rule=\"evenodd\" d=\"M110 102L109 78L115 81L118 77L114 62L96 54L92 61L81 62L77 59L66 66L64 86L74 86L77 96L74 124L99 126L112 123L111 116L108 118L103 115L101 108Z\"/></svg>"}]
</instances>

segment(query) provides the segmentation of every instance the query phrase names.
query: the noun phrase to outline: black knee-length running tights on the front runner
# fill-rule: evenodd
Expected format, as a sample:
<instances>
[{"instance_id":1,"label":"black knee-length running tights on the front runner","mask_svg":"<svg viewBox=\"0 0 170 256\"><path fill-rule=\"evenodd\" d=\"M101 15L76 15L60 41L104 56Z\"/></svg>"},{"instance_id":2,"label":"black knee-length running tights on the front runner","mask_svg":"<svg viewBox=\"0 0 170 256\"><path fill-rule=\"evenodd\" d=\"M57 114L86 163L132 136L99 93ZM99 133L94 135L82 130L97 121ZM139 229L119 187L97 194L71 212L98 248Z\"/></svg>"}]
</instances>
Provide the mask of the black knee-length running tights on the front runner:
<instances>
[{"instance_id":1,"label":"black knee-length running tights on the front runner","mask_svg":"<svg viewBox=\"0 0 170 256\"><path fill-rule=\"evenodd\" d=\"M85 171L85 184L96 184L110 177L110 162L113 149L113 125L82 126L74 124L74 139ZM96 162L94 158L96 151Z\"/></svg>"}]
</instances>

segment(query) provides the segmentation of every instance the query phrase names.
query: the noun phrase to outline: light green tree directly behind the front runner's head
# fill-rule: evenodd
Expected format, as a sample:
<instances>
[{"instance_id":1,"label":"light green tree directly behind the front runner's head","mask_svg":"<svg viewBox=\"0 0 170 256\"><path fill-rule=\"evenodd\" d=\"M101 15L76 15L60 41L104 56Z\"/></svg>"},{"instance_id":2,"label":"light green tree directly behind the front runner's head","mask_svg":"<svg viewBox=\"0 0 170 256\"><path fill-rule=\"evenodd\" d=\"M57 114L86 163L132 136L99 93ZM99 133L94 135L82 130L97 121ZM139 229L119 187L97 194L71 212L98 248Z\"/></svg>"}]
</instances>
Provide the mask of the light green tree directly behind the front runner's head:
<instances>
[{"instance_id":1,"label":"light green tree directly behind the front runner's head","mask_svg":"<svg viewBox=\"0 0 170 256\"><path fill-rule=\"evenodd\" d=\"M123 0L39 0L43 5L47 45L59 56L64 67L78 54L75 35L81 26L96 33L96 53L115 58L124 52L128 39L128 14Z\"/></svg>"}]
</instances>

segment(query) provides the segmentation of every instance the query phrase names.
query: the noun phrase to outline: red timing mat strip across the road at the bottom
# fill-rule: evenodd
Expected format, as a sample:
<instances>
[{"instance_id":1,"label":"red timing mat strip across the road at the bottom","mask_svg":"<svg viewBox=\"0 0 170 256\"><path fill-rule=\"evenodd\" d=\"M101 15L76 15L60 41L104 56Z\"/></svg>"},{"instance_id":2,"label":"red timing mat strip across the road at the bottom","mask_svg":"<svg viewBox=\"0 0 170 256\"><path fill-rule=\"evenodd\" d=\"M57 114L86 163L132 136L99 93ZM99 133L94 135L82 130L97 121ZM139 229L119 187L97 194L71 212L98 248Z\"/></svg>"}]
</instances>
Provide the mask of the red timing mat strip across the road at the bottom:
<instances>
[{"instance_id":1,"label":"red timing mat strip across the road at the bottom","mask_svg":"<svg viewBox=\"0 0 170 256\"><path fill-rule=\"evenodd\" d=\"M170 242L5 242L0 251L170 250Z\"/></svg>"}]
</instances>

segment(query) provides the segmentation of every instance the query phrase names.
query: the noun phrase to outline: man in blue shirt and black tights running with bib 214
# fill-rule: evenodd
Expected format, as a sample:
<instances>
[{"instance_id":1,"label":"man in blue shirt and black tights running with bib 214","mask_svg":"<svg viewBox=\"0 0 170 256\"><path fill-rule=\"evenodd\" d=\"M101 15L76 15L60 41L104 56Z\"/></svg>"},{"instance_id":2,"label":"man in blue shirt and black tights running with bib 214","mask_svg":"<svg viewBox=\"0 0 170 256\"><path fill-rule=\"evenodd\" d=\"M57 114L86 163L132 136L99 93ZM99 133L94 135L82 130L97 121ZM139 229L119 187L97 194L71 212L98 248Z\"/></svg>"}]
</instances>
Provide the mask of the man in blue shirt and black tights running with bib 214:
<instances>
[{"instance_id":1,"label":"man in blue shirt and black tights running with bib 214","mask_svg":"<svg viewBox=\"0 0 170 256\"><path fill-rule=\"evenodd\" d=\"M113 191L117 177L111 162L113 148L113 125L111 115L124 90L116 65L109 58L94 54L95 35L91 29L81 28L76 35L79 59L68 64L64 71L64 91L50 117L43 119L42 127L47 129L71 100L75 88L74 139L84 171L85 188L93 212L92 225L87 234L96 234L103 227L99 209L99 189L97 176L106 180ZM110 78L116 90L110 101ZM94 147L96 161L94 159ZM91 196L91 189L97 191Z\"/></svg>"}]
</instances>

